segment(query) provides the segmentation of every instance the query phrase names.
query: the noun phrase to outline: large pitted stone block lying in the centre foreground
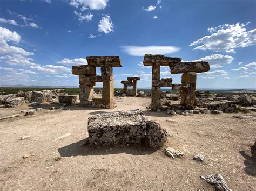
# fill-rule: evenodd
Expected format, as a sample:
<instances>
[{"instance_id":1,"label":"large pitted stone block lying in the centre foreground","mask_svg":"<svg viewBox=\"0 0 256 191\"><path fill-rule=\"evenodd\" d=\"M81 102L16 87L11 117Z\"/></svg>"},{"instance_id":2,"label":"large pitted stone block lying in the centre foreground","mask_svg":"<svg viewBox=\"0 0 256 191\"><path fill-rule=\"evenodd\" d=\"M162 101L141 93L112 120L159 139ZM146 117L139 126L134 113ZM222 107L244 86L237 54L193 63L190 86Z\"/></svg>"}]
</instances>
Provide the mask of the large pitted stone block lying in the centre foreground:
<instances>
[{"instance_id":1,"label":"large pitted stone block lying in the centre foreground","mask_svg":"<svg viewBox=\"0 0 256 191\"><path fill-rule=\"evenodd\" d=\"M158 148L165 144L165 129L149 121L142 111L120 111L88 118L91 145L136 144Z\"/></svg>"}]
</instances>

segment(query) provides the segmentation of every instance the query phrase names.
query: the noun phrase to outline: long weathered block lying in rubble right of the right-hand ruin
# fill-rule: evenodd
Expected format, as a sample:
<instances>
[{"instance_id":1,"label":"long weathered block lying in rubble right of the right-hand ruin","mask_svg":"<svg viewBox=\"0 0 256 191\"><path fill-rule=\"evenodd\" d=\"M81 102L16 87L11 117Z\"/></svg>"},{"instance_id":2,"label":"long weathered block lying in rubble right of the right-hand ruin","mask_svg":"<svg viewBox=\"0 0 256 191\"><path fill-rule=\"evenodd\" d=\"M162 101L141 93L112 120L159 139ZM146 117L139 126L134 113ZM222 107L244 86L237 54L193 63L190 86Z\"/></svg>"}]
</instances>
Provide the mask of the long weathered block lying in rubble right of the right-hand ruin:
<instances>
[{"instance_id":1,"label":"long weathered block lying in rubble right of the right-hand ruin","mask_svg":"<svg viewBox=\"0 0 256 191\"><path fill-rule=\"evenodd\" d=\"M236 105L234 101L219 101L208 103L207 108L209 110L219 110L225 113L232 113L235 112Z\"/></svg>"}]
</instances>

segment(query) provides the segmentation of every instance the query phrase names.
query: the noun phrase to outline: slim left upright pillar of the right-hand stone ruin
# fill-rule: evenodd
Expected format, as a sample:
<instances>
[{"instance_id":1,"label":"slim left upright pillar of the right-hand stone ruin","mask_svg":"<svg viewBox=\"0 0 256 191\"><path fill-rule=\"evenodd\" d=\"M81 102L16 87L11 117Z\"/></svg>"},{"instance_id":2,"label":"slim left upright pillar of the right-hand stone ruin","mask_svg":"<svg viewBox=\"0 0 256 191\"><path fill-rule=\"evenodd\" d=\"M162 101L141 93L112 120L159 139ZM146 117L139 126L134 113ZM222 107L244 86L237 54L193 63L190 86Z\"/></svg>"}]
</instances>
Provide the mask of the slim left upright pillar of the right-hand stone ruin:
<instances>
[{"instance_id":1,"label":"slim left upright pillar of the right-hand stone ruin","mask_svg":"<svg viewBox=\"0 0 256 191\"><path fill-rule=\"evenodd\" d=\"M160 89L160 63L152 65L152 89L151 89L151 110L156 111L161 108L161 89ZM158 85L159 84L159 85Z\"/></svg>"}]
</instances>

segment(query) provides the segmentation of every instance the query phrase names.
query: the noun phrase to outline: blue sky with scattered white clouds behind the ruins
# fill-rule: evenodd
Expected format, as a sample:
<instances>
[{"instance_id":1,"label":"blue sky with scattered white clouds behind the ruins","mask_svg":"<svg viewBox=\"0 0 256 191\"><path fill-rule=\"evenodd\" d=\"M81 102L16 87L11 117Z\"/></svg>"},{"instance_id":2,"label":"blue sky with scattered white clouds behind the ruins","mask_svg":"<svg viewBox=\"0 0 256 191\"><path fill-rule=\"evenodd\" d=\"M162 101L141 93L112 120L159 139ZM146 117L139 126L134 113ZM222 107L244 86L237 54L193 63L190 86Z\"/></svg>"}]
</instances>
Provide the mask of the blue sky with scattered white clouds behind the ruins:
<instances>
[{"instance_id":1,"label":"blue sky with scattered white clouds behind the ruins","mask_svg":"<svg viewBox=\"0 0 256 191\"><path fill-rule=\"evenodd\" d=\"M151 87L144 54L208 61L197 88L256 88L256 1L0 0L0 86L78 86L73 65L117 55L114 87ZM161 77L181 83L169 67Z\"/></svg>"}]
</instances>

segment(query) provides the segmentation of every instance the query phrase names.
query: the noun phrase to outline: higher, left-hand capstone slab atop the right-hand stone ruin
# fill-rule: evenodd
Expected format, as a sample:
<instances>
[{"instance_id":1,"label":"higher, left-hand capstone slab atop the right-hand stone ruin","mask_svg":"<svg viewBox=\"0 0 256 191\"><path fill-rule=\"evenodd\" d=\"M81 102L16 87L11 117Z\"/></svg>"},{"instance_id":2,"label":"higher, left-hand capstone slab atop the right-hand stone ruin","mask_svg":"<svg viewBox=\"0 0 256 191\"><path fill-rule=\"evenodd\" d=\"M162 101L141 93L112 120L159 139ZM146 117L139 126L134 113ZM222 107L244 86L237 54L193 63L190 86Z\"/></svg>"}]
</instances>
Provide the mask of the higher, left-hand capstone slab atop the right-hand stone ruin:
<instances>
[{"instance_id":1,"label":"higher, left-hand capstone slab atop the right-hand stone ruin","mask_svg":"<svg viewBox=\"0 0 256 191\"><path fill-rule=\"evenodd\" d=\"M161 66L169 66L171 63L179 62L181 62L181 58L165 57L164 55L160 54L145 54L143 65L152 66L153 63L160 63Z\"/></svg>"}]
</instances>

